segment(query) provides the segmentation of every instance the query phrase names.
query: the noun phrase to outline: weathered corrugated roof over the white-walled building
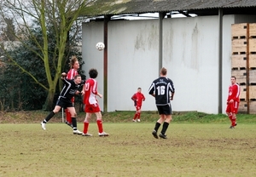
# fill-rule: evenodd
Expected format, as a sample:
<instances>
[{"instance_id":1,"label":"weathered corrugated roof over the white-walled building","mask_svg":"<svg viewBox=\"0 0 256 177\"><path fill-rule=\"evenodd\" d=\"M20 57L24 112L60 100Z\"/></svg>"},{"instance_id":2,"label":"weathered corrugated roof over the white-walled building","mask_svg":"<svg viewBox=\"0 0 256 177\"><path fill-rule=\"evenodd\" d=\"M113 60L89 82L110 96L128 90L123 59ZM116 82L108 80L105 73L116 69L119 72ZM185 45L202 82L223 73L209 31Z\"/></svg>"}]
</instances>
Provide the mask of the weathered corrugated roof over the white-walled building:
<instances>
[{"instance_id":1,"label":"weathered corrugated roof over the white-walled building","mask_svg":"<svg viewBox=\"0 0 256 177\"><path fill-rule=\"evenodd\" d=\"M84 9L83 15L143 14L252 7L256 7L255 0L96 0Z\"/></svg>"}]
</instances>

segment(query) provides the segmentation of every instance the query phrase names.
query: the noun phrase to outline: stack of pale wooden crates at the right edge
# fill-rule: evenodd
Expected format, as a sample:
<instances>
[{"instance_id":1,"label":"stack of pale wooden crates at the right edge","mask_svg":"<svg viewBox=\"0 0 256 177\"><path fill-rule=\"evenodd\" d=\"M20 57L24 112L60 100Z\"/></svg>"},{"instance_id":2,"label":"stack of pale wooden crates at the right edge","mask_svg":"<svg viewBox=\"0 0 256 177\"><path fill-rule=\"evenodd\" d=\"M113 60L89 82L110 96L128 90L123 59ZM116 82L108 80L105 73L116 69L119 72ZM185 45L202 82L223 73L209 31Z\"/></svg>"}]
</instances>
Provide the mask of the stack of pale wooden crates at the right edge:
<instances>
[{"instance_id":1,"label":"stack of pale wooden crates at the right edge","mask_svg":"<svg viewBox=\"0 0 256 177\"><path fill-rule=\"evenodd\" d=\"M240 84L241 113L256 113L256 23L233 24L232 76Z\"/></svg>"}]
</instances>

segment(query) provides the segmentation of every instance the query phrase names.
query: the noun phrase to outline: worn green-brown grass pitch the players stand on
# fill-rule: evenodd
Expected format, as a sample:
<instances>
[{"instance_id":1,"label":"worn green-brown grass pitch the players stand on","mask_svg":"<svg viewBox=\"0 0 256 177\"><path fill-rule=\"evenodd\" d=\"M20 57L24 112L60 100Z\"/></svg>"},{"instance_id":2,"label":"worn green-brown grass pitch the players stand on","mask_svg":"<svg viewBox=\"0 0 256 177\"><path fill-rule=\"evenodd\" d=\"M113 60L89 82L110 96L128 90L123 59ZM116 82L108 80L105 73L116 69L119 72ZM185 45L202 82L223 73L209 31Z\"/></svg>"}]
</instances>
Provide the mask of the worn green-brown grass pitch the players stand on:
<instances>
[{"instance_id":1,"label":"worn green-brown grass pitch the players stand on","mask_svg":"<svg viewBox=\"0 0 256 177\"><path fill-rule=\"evenodd\" d=\"M1 123L0 176L256 176L253 117L235 129L224 117L181 119L167 140L154 139L150 121L104 123L108 137L97 136L96 123L93 137L73 135L64 123L48 123L46 131L39 122Z\"/></svg>"}]
</instances>

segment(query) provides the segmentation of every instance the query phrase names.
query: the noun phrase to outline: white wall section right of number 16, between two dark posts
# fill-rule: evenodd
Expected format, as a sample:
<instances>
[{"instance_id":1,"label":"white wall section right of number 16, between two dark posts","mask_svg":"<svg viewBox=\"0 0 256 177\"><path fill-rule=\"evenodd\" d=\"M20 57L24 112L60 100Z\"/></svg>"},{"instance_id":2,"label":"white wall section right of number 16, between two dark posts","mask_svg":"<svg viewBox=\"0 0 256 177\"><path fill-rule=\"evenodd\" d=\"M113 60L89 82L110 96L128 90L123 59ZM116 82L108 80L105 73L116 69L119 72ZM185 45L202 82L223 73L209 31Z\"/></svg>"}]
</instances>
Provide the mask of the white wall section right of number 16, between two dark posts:
<instances>
[{"instance_id":1,"label":"white wall section right of number 16, between two dark posts","mask_svg":"<svg viewBox=\"0 0 256 177\"><path fill-rule=\"evenodd\" d=\"M164 22L163 66L175 83L173 110L217 112L218 16Z\"/></svg>"}]
</instances>

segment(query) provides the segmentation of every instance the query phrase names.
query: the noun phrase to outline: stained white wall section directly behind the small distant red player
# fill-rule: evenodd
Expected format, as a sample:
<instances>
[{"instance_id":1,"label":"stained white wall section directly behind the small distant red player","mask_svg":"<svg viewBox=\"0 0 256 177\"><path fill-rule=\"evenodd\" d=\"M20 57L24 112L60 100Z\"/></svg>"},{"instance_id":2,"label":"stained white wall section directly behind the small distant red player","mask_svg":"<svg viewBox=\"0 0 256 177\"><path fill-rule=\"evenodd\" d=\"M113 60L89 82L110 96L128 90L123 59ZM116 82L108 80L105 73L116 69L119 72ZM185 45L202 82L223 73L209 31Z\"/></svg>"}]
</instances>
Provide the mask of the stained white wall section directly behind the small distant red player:
<instances>
[{"instance_id":1,"label":"stained white wall section directly behind the small distant red player","mask_svg":"<svg viewBox=\"0 0 256 177\"><path fill-rule=\"evenodd\" d=\"M143 110L155 110L148 88L158 76L158 21L116 21L108 25L108 49L112 51L108 53L108 111L135 110L131 96L138 87L146 97Z\"/></svg>"}]
</instances>

